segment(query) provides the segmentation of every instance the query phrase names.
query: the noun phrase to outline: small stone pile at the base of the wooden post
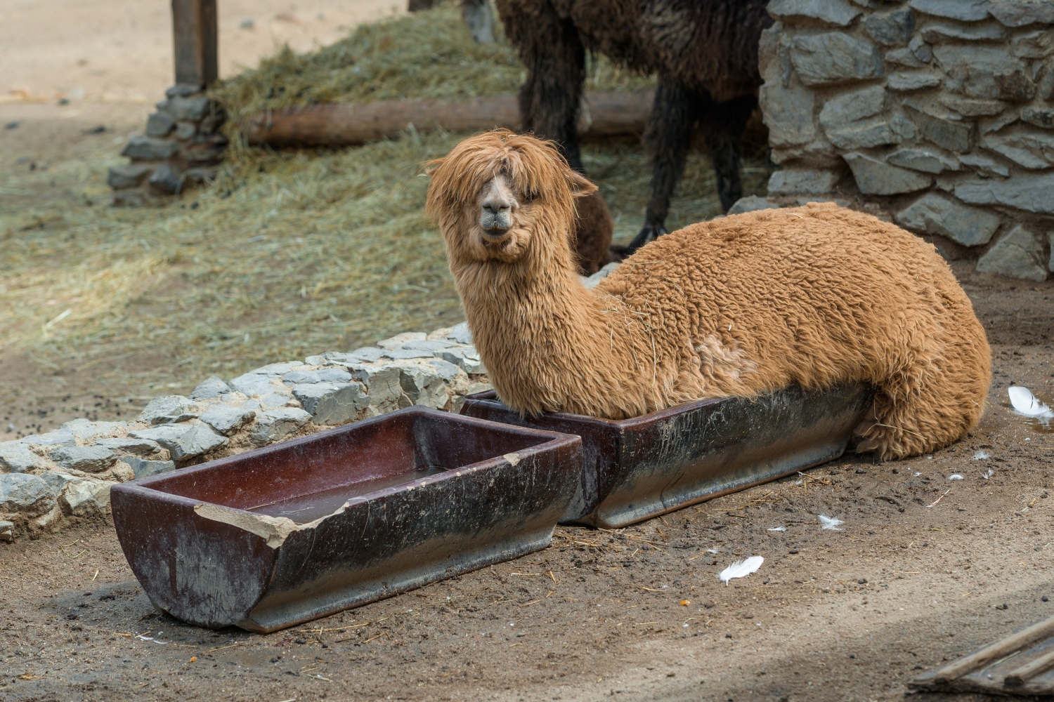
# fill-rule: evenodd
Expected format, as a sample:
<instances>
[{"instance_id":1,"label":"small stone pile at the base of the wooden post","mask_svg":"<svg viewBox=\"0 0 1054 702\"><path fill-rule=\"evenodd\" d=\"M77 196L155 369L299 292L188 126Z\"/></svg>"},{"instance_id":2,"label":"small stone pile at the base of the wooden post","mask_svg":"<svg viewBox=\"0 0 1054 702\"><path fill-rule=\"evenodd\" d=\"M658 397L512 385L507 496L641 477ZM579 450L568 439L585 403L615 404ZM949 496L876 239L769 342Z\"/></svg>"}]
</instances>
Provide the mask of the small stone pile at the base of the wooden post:
<instances>
[{"instance_id":1,"label":"small stone pile at the base of the wooden post","mask_svg":"<svg viewBox=\"0 0 1054 702\"><path fill-rule=\"evenodd\" d=\"M216 177L228 143L219 133L222 107L196 85L170 87L165 97L147 120L145 134L132 137L121 152L132 162L110 169L114 204L140 205Z\"/></svg>"}]
</instances>

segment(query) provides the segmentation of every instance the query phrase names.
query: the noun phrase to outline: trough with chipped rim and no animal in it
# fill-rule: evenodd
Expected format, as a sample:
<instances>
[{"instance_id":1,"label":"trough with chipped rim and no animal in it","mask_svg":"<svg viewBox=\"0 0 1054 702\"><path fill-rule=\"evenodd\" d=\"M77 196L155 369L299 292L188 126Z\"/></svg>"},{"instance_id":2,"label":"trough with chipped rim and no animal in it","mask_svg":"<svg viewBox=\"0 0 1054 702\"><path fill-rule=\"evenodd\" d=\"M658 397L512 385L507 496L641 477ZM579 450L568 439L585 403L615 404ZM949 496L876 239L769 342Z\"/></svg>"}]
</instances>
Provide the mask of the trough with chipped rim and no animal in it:
<instances>
[{"instance_id":1,"label":"trough with chipped rim and no animal in it","mask_svg":"<svg viewBox=\"0 0 1054 702\"><path fill-rule=\"evenodd\" d=\"M273 631L548 545L578 437L410 407L117 485L156 607Z\"/></svg>"}]
</instances>

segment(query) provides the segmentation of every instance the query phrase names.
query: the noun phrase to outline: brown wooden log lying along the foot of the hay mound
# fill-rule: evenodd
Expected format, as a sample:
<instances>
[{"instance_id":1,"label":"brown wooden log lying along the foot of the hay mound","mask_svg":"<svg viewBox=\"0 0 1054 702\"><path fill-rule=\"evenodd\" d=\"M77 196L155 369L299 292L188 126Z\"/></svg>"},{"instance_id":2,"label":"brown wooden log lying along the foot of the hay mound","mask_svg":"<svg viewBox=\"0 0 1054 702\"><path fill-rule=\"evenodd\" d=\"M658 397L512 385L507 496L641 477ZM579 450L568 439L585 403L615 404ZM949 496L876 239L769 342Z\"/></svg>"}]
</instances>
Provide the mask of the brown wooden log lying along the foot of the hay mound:
<instances>
[{"instance_id":1,"label":"brown wooden log lying along the foot of the hay mound","mask_svg":"<svg viewBox=\"0 0 1054 702\"><path fill-rule=\"evenodd\" d=\"M652 91L588 95L579 119L579 135L639 135L653 98ZM515 129L520 126L520 108L511 95L454 103L383 100L364 105L308 105L252 117L247 137L255 145L351 146L398 136L410 125L421 132L481 132L499 126Z\"/></svg>"}]
</instances>

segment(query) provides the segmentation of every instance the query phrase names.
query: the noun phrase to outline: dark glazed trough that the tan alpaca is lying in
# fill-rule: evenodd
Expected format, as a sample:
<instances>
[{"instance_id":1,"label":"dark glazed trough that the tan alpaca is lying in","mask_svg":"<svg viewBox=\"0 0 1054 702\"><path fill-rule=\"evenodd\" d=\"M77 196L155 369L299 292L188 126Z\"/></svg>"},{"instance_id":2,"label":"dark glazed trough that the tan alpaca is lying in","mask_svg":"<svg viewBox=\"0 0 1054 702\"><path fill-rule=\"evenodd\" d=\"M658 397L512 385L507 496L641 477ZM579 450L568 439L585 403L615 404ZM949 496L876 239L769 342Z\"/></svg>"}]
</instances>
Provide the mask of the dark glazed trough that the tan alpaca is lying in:
<instances>
[{"instance_id":1,"label":"dark glazed trough that the tan alpaca is lying in","mask_svg":"<svg viewBox=\"0 0 1054 702\"><path fill-rule=\"evenodd\" d=\"M838 458L871 398L862 385L789 387L613 421L525 419L491 390L466 398L462 414L582 437L582 482L561 522L616 528Z\"/></svg>"}]
</instances>

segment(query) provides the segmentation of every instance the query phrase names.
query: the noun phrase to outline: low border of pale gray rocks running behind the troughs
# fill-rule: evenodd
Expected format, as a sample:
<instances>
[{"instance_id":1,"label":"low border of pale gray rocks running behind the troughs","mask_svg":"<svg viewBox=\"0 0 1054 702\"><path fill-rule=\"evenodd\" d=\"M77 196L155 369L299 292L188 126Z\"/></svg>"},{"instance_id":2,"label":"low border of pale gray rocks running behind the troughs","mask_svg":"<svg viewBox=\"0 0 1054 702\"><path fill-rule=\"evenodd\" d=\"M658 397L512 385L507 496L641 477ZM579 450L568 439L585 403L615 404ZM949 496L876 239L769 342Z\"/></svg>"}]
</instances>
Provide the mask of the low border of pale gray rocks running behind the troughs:
<instances>
[{"instance_id":1,"label":"low border of pale gray rocks running behind the troughs","mask_svg":"<svg viewBox=\"0 0 1054 702\"><path fill-rule=\"evenodd\" d=\"M349 353L272 363L190 397L150 401L134 422L77 419L0 443L0 541L110 510L117 482L194 465L411 405L457 412L489 389L464 322Z\"/></svg>"}]
</instances>

